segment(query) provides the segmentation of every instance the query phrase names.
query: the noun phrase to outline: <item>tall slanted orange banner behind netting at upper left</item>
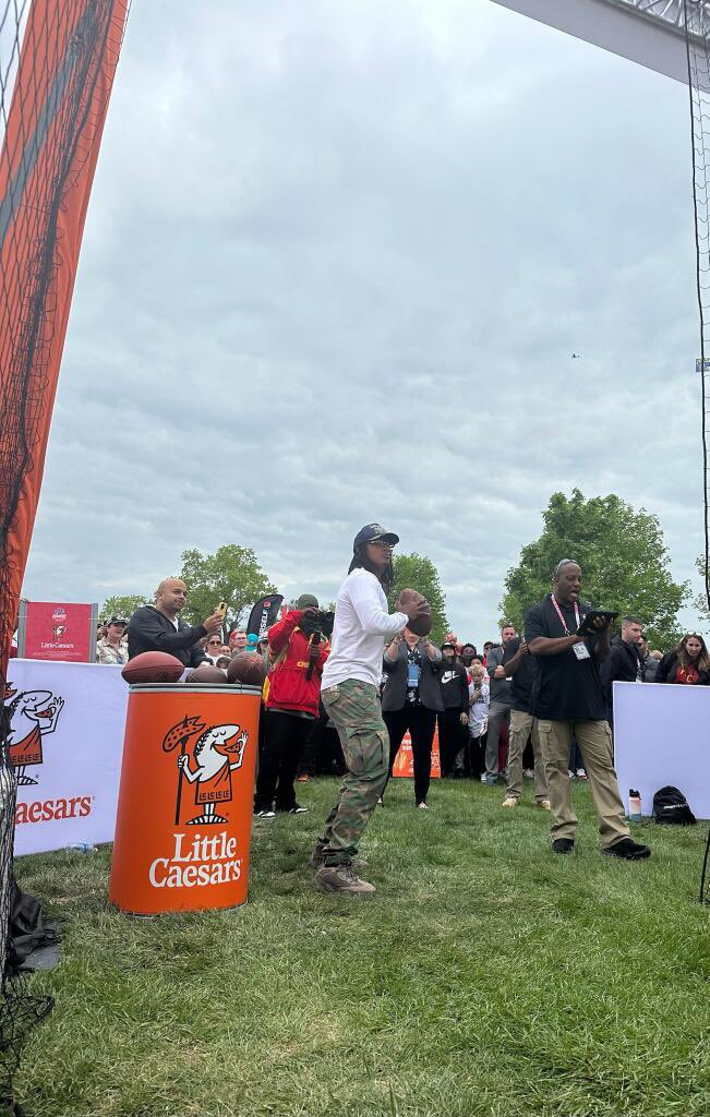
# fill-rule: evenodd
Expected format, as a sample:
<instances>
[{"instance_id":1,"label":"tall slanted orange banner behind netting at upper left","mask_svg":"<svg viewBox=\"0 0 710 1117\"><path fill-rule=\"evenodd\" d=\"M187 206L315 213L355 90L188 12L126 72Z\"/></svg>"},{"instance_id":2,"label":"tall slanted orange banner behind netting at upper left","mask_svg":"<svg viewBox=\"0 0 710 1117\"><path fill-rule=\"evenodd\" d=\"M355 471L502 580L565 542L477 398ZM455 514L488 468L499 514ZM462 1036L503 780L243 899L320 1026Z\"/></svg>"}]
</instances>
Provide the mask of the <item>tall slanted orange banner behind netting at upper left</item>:
<instances>
[{"instance_id":1,"label":"tall slanted orange banner behind netting at upper left","mask_svg":"<svg viewBox=\"0 0 710 1117\"><path fill-rule=\"evenodd\" d=\"M0 675L127 0L32 0L0 152Z\"/></svg>"}]
</instances>

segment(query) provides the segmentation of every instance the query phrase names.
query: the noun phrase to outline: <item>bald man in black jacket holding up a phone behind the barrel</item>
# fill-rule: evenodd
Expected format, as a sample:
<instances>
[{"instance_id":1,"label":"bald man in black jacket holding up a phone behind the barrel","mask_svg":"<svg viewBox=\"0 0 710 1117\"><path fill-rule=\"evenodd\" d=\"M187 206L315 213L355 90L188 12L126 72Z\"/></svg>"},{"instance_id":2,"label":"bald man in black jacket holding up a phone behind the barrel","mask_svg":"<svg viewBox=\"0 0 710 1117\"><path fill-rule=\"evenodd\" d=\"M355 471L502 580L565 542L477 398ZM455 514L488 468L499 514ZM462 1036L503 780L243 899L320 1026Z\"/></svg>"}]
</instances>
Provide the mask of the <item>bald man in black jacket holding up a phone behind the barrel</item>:
<instances>
[{"instance_id":1,"label":"bald man in black jacket holding up a phone behind the barrel","mask_svg":"<svg viewBox=\"0 0 710 1117\"><path fill-rule=\"evenodd\" d=\"M128 659L144 651L166 651L185 667L196 667L207 660L200 640L217 632L222 624L220 613L212 613L202 624L185 624L180 610L188 600L188 589L179 577L165 577L157 588L155 605L142 605L128 621Z\"/></svg>"}]
</instances>

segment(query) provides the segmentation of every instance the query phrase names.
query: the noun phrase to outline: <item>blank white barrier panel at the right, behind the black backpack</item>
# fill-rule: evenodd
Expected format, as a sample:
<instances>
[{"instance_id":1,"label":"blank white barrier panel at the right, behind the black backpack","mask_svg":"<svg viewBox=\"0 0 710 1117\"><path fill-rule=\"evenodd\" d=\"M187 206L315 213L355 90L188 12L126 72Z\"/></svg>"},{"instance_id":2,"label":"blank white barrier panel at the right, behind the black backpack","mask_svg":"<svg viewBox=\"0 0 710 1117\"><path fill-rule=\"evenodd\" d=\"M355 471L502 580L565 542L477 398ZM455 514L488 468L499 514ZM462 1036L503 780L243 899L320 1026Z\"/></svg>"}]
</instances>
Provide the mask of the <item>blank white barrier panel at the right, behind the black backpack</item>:
<instances>
[{"instance_id":1,"label":"blank white barrier panel at the right, behind the black backpack","mask_svg":"<svg viewBox=\"0 0 710 1117\"><path fill-rule=\"evenodd\" d=\"M634 787L651 814L655 792L671 784L710 819L710 687L615 682L614 755L624 804Z\"/></svg>"}]
</instances>

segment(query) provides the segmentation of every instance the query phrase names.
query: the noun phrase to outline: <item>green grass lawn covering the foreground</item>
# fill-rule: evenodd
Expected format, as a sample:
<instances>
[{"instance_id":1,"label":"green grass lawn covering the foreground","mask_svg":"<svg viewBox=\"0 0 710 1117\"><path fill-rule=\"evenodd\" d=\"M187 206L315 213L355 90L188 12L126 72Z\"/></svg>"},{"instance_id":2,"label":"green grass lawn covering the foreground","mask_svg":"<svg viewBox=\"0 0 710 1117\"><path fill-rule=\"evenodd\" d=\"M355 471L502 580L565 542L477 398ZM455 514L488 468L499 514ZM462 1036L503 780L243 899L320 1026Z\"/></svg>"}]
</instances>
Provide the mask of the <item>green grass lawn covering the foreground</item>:
<instances>
[{"instance_id":1,"label":"green grass lawn covering the foreground","mask_svg":"<svg viewBox=\"0 0 710 1117\"><path fill-rule=\"evenodd\" d=\"M119 915L108 848L25 858L66 920L57 1004L16 1087L31 1117L707 1117L707 824L635 827L651 861L602 857L588 790L577 851L502 789L409 781L365 837L373 899L320 896L306 867L336 792L256 825L236 911Z\"/></svg>"}]
</instances>

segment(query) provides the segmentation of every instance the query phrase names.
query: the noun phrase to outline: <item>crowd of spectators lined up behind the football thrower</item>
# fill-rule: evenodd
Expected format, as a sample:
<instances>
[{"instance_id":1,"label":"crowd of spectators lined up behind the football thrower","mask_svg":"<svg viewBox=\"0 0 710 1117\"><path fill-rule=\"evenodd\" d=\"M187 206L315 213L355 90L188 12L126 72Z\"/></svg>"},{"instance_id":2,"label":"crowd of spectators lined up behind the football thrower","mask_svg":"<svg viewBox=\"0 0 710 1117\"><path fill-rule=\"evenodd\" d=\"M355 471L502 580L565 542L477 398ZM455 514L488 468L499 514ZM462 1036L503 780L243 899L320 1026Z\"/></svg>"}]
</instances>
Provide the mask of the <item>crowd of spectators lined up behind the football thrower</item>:
<instances>
[{"instance_id":1,"label":"crowd of spectators lined up behind the football thrower","mask_svg":"<svg viewBox=\"0 0 710 1117\"><path fill-rule=\"evenodd\" d=\"M227 636L217 613L202 626L185 624L180 619L185 600L184 583L167 579L159 588L154 607L142 607L129 622L108 619L98 631L97 661L121 665L144 650L164 650L176 655L185 667L210 662L227 672L233 656L261 655L267 681L255 812L262 818L272 818L277 811L306 813L296 799L296 784L345 770L338 735L320 701L329 643L314 628L313 619L320 615L317 599L303 594L261 640L240 628ZM553 596L549 600L555 603ZM535 623L528 621L531 631ZM549 810L532 700L534 659L512 624L502 627L498 640L487 640L480 653L476 645L460 641L453 632L435 643L404 629L385 645L381 697L390 773L409 735L414 801L421 810L429 805L436 741L443 779L469 777L489 787L503 782L503 806L517 805L527 779L534 781L537 804ZM611 640L610 655L601 661L599 675L604 715L611 726L615 681L707 686L710 657L698 633L688 633L665 655L651 650L642 621L626 615ZM563 751L566 777L586 780L584 748L574 733Z\"/></svg>"}]
</instances>

